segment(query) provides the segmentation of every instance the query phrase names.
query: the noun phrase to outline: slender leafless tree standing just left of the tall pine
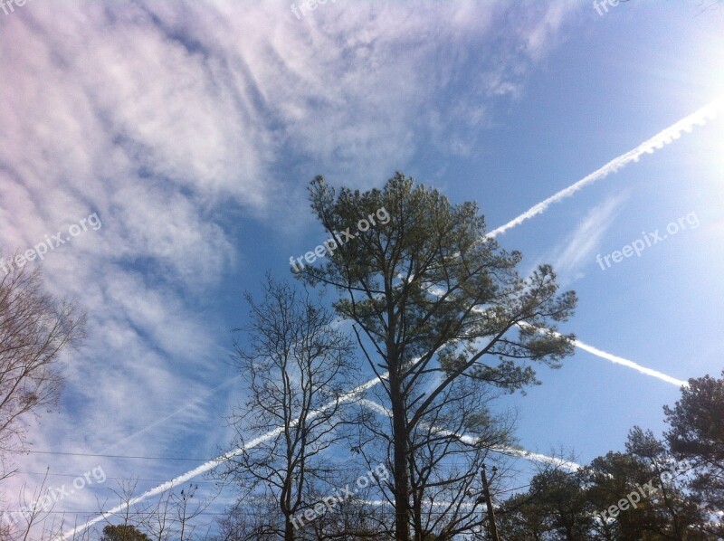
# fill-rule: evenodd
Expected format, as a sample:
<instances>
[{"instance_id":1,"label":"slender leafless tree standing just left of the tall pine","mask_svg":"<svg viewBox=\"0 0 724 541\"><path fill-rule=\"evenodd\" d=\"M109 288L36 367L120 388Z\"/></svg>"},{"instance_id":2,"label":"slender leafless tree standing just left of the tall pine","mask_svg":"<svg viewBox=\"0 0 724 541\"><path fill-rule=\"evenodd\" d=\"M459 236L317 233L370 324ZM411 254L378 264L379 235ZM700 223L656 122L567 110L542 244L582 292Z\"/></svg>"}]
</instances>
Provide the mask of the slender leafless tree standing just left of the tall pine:
<instances>
[{"instance_id":1,"label":"slender leafless tree standing just left of the tall pine","mask_svg":"<svg viewBox=\"0 0 724 541\"><path fill-rule=\"evenodd\" d=\"M233 413L234 445L243 453L229 461L225 479L244 496L271 489L283 517L278 537L291 541L306 508L305 493L325 484L332 470L321 454L344 437L342 395L355 383L348 337L332 327L332 314L268 275L263 300L247 294L252 323L247 348L236 344L234 360L249 384L249 398ZM244 443L273 431L252 449Z\"/></svg>"}]
</instances>

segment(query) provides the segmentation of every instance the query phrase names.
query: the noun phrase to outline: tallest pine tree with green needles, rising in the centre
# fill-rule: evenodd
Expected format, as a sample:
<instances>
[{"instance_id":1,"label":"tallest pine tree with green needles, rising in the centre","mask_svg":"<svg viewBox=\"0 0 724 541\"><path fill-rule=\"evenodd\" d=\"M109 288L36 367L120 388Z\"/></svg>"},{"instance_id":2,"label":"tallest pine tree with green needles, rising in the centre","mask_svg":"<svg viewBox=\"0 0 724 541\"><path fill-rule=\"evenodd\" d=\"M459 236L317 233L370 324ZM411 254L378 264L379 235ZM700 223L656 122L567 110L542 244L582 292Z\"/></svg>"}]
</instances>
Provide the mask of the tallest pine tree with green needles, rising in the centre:
<instances>
[{"instance_id":1,"label":"tallest pine tree with green needles, rising in the centre","mask_svg":"<svg viewBox=\"0 0 724 541\"><path fill-rule=\"evenodd\" d=\"M440 520L423 502L443 495L462 501L475 489L491 439L483 436L466 450L456 432L472 425L493 439L506 432L486 417L485 399L491 390L538 383L533 363L557 367L572 353L573 337L558 334L556 324L570 317L576 295L558 294L548 265L521 278L520 253L486 237L477 204L453 205L400 173L383 189L367 192L336 192L317 177L310 196L329 235L347 234L338 235L345 242L301 270L300 278L337 289L334 306L353 323L368 365L377 375L389 372L380 377L379 395L391 412L390 426L374 433L383 440L377 449L388 453L383 458L394 478L386 487L395 501L391 532L402 541L410 539L410 527L416 538L470 532L481 524L477 509L453 508ZM360 219L373 217L380 223L357 231ZM454 476L438 473L452 452L474 458Z\"/></svg>"}]
</instances>

